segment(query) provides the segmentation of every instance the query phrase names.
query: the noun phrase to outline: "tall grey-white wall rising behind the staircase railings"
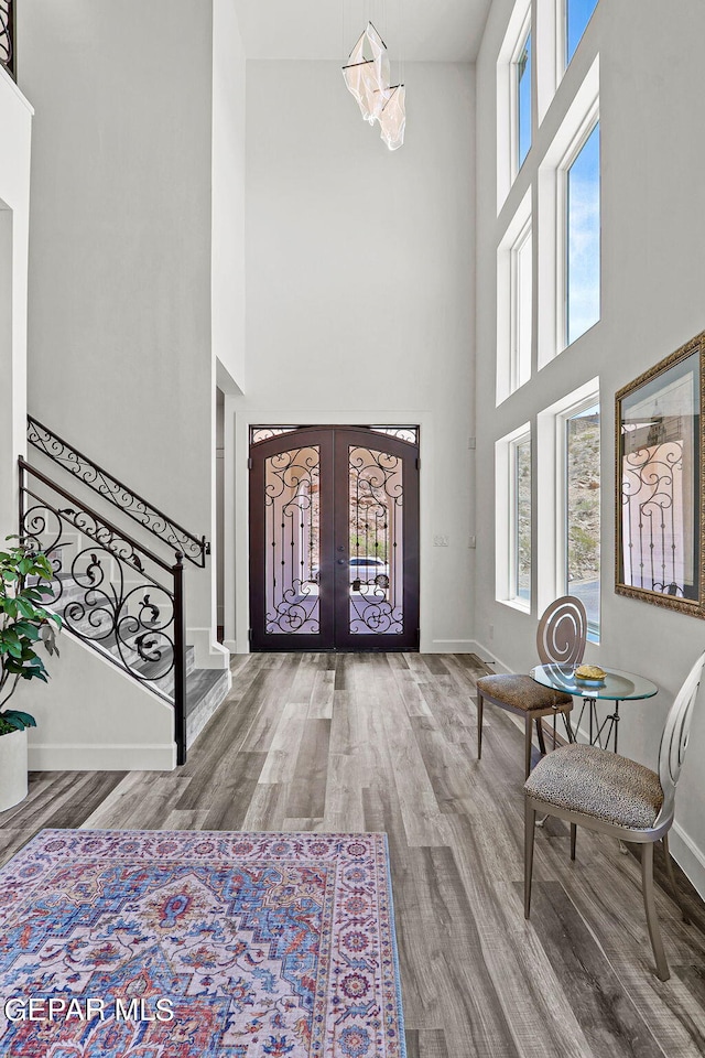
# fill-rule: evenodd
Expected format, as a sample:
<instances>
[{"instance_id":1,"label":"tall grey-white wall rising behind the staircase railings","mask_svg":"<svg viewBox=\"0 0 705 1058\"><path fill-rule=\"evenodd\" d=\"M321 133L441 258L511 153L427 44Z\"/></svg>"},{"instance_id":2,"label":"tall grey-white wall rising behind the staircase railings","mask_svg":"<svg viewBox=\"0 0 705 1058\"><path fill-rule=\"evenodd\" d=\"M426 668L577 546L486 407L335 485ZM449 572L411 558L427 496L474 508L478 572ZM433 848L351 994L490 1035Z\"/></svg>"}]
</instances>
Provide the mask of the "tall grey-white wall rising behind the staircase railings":
<instances>
[{"instance_id":1,"label":"tall grey-white wall rising behind the staircase railings","mask_svg":"<svg viewBox=\"0 0 705 1058\"><path fill-rule=\"evenodd\" d=\"M26 0L18 23L36 109L30 411L212 538L212 4ZM210 576L187 585L200 648Z\"/></svg>"}]
</instances>

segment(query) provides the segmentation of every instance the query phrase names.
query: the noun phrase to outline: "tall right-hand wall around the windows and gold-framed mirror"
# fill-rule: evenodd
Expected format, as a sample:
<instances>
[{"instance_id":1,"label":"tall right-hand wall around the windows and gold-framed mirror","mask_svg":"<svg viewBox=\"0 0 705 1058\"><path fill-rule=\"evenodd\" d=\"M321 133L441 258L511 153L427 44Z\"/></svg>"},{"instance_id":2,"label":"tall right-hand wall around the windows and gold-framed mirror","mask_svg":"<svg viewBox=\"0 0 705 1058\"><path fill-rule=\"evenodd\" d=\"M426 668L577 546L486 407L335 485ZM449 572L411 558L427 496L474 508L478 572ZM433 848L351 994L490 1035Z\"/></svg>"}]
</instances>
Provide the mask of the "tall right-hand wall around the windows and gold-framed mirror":
<instances>
[{"instance_id":1,"label":"tall right-hand wall around the windows and gold-framed mirror","mask_svg":"<svg viewBox=\"0 0 705 1058\"><path fill-rule=\"evenodd\" d=\"M544 14L552 6L545 0ZM509 0L492 4L477 65L478 202L487 208L478 210L477 224L477 495L484 515L478 521L476 634L482 649L494 651L512 670L527 671L535 663L535 613L528 616L495 602L494 445L599 375L601 644L588 648L588 659L641 672L661 688L651 701L625 705L620 726L620 752L653 766L665 712L703 649L705 624L614 593L614 395L705 328L705 141L701 134L705 95L699 72L705 8L701 0L683 0L669 7L664 22L659 0L598 4L529 160L542 158L550 147L571 97L599 53L601 321L495 408L496 248L527 191L533 165L520 173L497 218L496 60L510 12ZM534 540L534 557L540 548L541 540ZM703 894L705 788L699 762L704 754L705 702L701 701L679 789L673 848Z\"/></svg>"}]
</instances>

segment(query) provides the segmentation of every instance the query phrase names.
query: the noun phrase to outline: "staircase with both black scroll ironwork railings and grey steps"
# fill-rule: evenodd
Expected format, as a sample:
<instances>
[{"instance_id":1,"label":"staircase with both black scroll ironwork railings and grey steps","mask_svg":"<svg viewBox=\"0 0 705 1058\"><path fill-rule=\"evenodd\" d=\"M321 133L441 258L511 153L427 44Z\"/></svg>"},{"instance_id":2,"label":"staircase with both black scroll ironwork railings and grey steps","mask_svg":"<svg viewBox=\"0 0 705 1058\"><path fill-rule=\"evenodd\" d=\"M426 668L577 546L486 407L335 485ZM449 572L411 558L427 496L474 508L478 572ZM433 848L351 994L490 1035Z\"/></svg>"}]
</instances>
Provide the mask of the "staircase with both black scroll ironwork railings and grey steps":
<instances>
[{"instance_id":1,"label":"staircase with both black scroll ironwork railings and grey steps","mask_svg":"<svg viewBox=\"0 0 705 1058\"><path fill-rule=\"evenodd\" d=\"M184 764L230 687L228 669L196 668L185 637L184 559L205 568L209 546L32 418L28 440L53 472L19 460L20 536L54 570L45 605L68 635L172 705L176 763ZM68 474L117 508L116 521L138 522L159 547L148 548L68 492L58 482ZM167 549L170 559L158 553Z\"/></svg>"}]
</instances>

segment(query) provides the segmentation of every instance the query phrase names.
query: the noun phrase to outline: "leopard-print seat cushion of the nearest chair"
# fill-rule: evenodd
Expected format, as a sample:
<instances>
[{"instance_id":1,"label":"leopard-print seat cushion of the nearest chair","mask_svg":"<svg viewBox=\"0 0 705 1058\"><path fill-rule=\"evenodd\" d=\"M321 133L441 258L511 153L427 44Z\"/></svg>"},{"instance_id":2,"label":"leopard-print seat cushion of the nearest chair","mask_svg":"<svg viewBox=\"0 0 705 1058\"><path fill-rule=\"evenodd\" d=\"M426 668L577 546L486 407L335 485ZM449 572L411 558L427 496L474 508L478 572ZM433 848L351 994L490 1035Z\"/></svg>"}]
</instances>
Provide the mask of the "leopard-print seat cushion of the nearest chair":
<instances>
[{"instance_id":1,"label":"leopard-print seat cushion of the nearest chair","mask_svg":"<svg viewBox=\"0 0 705 1058\"><path fill-rule=\"evenodd\" d=\"M630 830L649 830L663 805L659 776L598 746L562 746L539 762L524 786L546 805Z\"/></svg>"}]
</instances>

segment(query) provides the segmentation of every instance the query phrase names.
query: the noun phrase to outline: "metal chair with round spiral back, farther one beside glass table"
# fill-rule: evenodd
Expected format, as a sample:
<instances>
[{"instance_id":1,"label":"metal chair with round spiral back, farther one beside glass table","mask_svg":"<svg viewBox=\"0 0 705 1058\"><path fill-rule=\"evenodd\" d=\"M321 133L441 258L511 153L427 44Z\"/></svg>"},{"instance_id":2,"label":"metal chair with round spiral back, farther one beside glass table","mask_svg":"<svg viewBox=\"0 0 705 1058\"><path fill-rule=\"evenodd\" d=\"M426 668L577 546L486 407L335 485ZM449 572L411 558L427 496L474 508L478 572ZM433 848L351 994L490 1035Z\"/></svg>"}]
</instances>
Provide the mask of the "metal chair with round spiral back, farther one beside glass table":
<instances>
[{"instance_id":1,"label":"metal chair with round spiral back, farther one beside glass table","mask_svg":"<svg viewBox=\"0 0 705 1058\"><path fill-rule=\"evenodd\" d=\"M587 615L579 598L563 595L544 611L536 633L536 650L542 665L579 665L585 654ZM572 738L567 713L573 709L570 694L541 687L530 676L482 676L477 681L477 759L482 756L482 712L485 702L507 709L524 717L524 778L531 771L532 724L541 753L546 747L541 727L543 716L563 713L568 737ZM555 733L555 727L554 727Z\"/></svg>"}]
</instances>

